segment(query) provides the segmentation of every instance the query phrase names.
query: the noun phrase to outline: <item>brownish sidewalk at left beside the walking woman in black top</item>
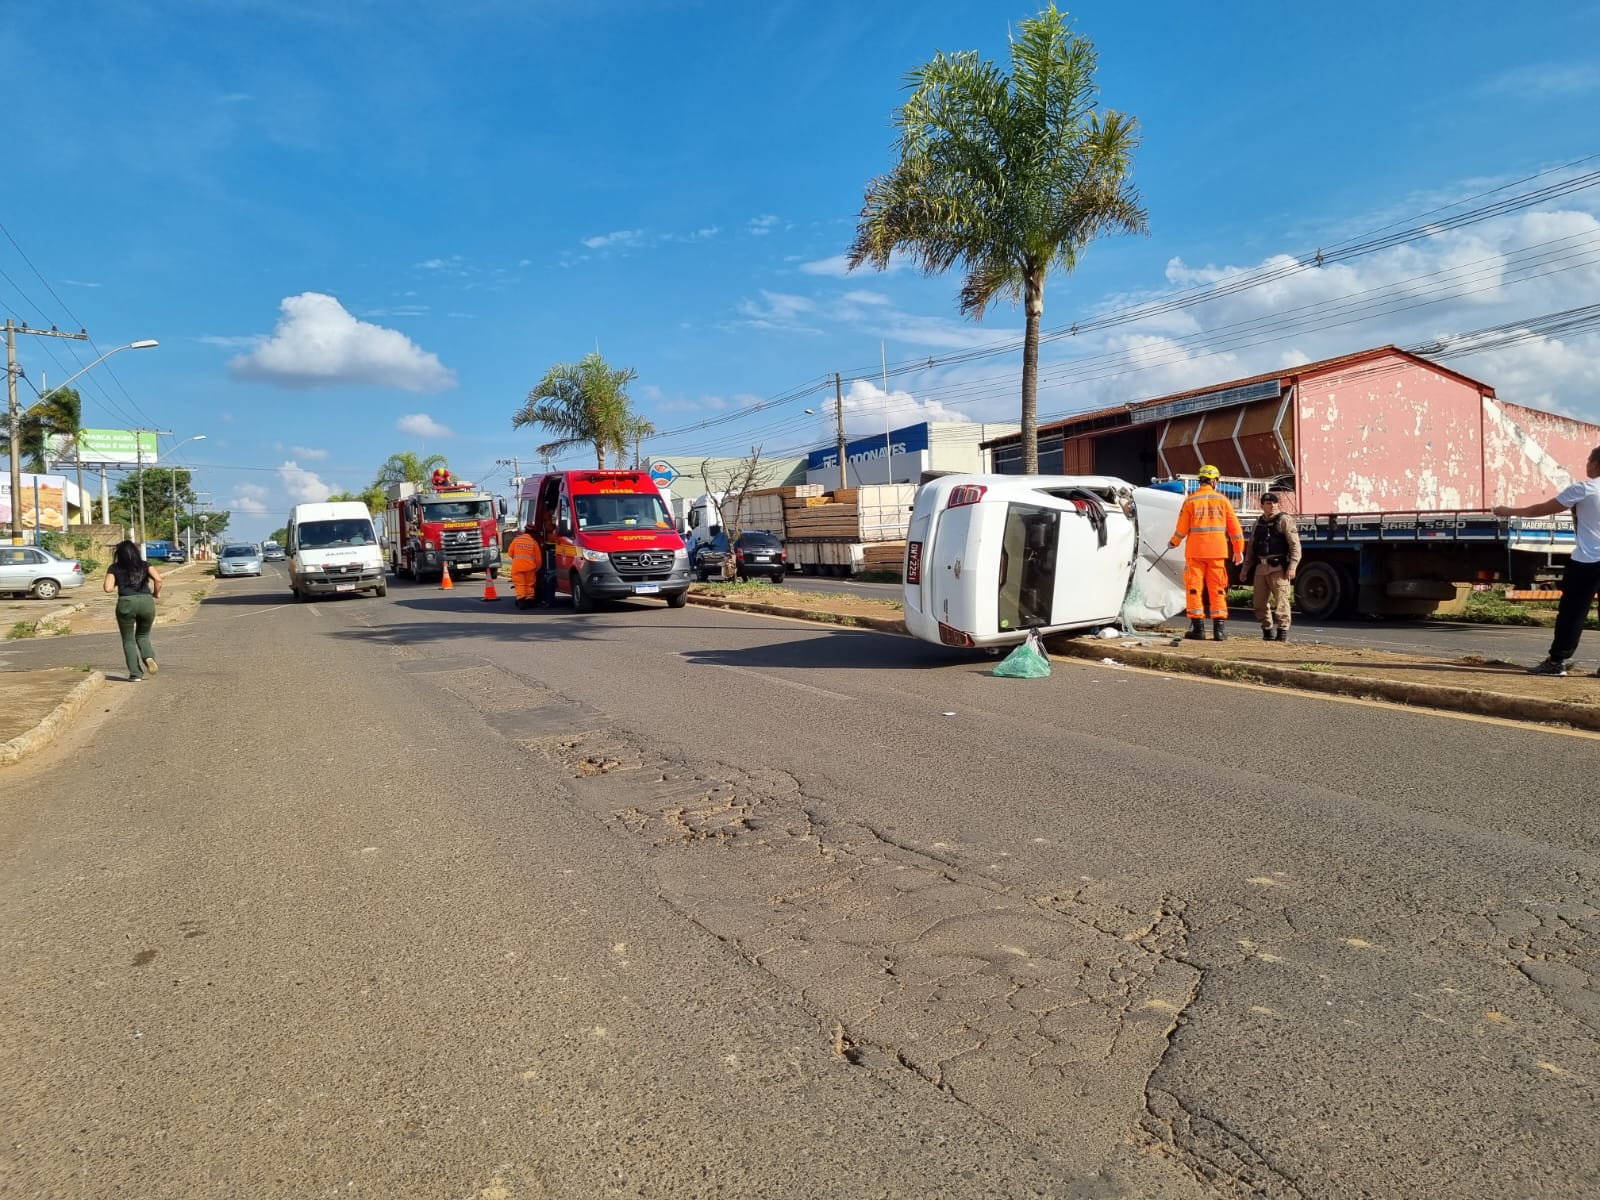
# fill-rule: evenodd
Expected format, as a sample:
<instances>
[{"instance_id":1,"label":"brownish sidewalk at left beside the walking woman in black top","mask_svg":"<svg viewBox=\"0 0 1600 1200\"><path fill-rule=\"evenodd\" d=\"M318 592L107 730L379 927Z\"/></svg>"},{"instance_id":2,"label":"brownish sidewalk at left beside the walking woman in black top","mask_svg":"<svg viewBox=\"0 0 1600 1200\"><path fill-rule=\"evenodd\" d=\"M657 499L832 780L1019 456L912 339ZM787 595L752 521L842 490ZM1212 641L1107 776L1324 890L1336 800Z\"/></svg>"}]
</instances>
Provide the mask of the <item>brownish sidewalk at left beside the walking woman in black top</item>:
<instances>
[{"instance_id":1,"label":"brownish sidewalk at left beside the walking woman in black top","mask_svg":"<svg viewBox=\"0 0 1600 1200\"><path fill-rule=\"evenodd\" d=\"M54 602L0 602L0 632L32 629L0 643L0 768L48 746L107 677L122 680L117 597L101 590L104 576L62 592ZM213 579L197 563L162 571L157 632L194 616ZM107 667L96 669L94 664Z\"/></svg>"}]
</instances>

